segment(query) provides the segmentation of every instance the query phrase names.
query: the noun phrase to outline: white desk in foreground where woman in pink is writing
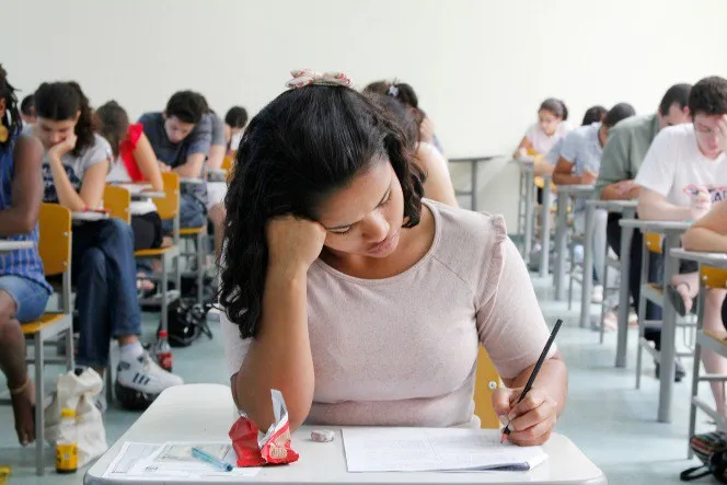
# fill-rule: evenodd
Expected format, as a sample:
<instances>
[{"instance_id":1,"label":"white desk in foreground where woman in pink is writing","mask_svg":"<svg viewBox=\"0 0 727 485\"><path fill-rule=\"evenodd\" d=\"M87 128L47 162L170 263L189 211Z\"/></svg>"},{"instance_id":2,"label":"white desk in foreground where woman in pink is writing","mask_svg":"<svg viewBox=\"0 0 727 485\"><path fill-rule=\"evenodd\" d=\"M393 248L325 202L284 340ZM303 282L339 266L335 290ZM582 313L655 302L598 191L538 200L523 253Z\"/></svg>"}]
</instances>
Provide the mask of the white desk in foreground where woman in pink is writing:
<instances>
[{"instance_id":1,"label":"white desk in foreground where woman in pink is writing","mask_svg":"<svg viewBox=\"0 0 727 485\"><path fill-rule=\"evenodd\" d=\"M234 420L234 405L230 389L221 384L187 384L165 390L141 417L86 472L83 483L139 484L142 482L111 482L102 478L108 464L118 454L124 441L164 442L170 440L229 440L228 431ZM321 427L325 428L325 427ZM331 428L328 428L331 429ZM335 429L335 428L334 428ZM553 435L543 447L549 460L532 472L486 473L348 473L339 429L331 443L310 439L311 428L295 434L292 448L300 460L286 466L264 467L251 478L222 478L228 483L256 484L515 484L549 485L607 484L605 475L563 435ZM498 432L493 430L493 432ZM176 482L165 482L174 484Z\"/></svg>"}]
</instances>

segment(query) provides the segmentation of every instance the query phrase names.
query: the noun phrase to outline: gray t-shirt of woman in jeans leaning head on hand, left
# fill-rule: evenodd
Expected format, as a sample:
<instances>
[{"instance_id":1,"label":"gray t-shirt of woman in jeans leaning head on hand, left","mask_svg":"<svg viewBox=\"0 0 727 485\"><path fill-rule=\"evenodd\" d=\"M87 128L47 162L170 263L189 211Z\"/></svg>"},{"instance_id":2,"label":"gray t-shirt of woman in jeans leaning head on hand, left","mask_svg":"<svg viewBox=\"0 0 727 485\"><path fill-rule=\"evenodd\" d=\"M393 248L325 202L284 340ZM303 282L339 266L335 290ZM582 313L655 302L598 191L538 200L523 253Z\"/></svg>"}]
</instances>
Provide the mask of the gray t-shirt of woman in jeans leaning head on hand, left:
<instances>
[{"instance_id":1,"label":"gray t-shirt of woman in jeans leaning head on hand, left","mask_svg":"<svg viewBox=\"0 0 727 485\"><path fill-rule=\"evenodd\" d=\"M60 161L66 169L66 173L68 174L68 180L71 182L76 192L81 190L83 175L85 175L86 170L97 163L102 163L104 160L112 160L114 157L111 150L111 145L108 145L108 141L106 141L105 138L94 134L93 139L93 145L83 150L81 154L74 155L72 152L68 152L60 158ZM47 152L43 155L43 200L46 203L58 204L58 194L56 193L56 185L53 182L50 160L48 159Z\"/></svg>"}]
</instances>

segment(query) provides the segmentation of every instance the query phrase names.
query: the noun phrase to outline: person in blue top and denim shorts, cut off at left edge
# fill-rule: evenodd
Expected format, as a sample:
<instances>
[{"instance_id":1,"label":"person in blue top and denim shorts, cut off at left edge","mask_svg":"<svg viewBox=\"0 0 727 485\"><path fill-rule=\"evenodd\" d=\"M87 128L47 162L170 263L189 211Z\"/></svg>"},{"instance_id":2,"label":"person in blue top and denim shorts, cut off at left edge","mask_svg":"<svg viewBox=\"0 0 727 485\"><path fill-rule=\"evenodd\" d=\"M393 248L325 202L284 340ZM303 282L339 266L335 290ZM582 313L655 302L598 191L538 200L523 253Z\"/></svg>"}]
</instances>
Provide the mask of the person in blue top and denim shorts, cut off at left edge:
<instances>
[{"instance_id":1,"label":"person in blue top and denim shorts, cut off at left edge","mask_svg":"<svg viewBox=\"0 0 727 485\"><path fill-rule=\"evenodd\" d=\"M51 288L37 250L43 149L21 130L15 90L0 66L0 241L34 244L0 254L0 369L8 380L18 440L25 446L35 440L35 389L25 366L21 325L43 314Z\"/></svg>"}]
</instances>

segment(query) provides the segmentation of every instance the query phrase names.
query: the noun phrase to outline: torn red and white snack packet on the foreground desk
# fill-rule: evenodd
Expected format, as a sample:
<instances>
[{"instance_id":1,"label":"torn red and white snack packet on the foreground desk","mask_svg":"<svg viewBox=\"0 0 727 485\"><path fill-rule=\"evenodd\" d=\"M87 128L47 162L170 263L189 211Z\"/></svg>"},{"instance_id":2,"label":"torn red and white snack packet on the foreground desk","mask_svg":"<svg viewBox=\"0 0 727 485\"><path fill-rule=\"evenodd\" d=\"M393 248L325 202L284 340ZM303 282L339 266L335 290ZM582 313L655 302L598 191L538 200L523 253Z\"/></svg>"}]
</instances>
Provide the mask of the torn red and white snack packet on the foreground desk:
<instances>
[{"instance_id":1,"label":"torn red and white snack packet on the foreground desk","mask_svg":"<svg viewBox=\"0 0 727 485\"><path fill-rule=\"evenodd\" d=\"M275 423L265 435L257 426L241 416L230 428L232 447L238 453L238 466L262 466L264 464L284 464L298 461L298 453L290 448L290 425L288 408L282 393L272 390Z\"/></svg>"}]
</instances>

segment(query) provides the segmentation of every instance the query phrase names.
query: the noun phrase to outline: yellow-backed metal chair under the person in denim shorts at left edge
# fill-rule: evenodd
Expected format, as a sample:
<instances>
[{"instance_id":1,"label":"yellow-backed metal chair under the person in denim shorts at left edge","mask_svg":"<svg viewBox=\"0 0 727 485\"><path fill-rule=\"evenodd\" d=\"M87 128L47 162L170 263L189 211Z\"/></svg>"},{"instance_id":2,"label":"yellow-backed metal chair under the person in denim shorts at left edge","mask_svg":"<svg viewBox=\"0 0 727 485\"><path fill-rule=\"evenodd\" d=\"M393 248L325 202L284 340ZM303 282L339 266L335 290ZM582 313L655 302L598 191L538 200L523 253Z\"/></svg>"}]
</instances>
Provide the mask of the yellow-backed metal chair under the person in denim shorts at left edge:
<instances>
[{"instance_id":1,"label":"yellow-backed metal chair under the person in denim shorts at left edge","mask_svg":"<svg viewBox=\"0 0 727 485\"><path fill-rule=\"evenodd\" d=\"M56 204L43 204L38 216L41 238L38 252L43 259L46 277L61 276L59 308L46 312L37 321L22 325L23 335L33 345L33 357L27 362L35 366L35 474L45 474L43 451L45 448L44 407L49 403L46 395L43 370L46 363L66 363L68 371L73 369L73 316L71 309L71 212ZM46 357L45 344L55 344L65 337L65 351L61 357ZM3 404L10 400L1 400Z\"/></svg>"}]
</instances>

